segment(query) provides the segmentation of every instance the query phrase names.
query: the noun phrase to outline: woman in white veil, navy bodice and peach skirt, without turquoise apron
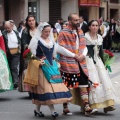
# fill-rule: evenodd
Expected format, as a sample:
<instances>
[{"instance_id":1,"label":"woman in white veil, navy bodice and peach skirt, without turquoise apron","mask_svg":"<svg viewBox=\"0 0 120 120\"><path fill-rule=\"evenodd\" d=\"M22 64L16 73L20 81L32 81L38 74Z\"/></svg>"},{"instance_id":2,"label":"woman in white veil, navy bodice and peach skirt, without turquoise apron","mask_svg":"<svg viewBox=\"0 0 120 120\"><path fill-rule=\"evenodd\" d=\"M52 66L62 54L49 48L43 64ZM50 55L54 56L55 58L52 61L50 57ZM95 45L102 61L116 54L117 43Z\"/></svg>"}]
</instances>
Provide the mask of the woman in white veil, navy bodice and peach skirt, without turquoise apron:
<instances>
[{"instance_id":1,"label":"woman in white veil, navy bodice and peach skirt, without turquoise apron","mask_svg":"<svg viewBox=\"0 0 120 120\"><path fill-rule=\"evenodd\" d=\"M40 107L41 105L48 105L51 110L52 117L56 118L59 114L55 111L53 105L70 102L72 96L63 82L48 82L48 79L46 79L47 77L45 77L45 74L41 69L44 64L42 59L45 57L45 59L48 60L49 65L52 65L56 52L59 51L61 54L65 54L67 56L71 56L72 53L69 54L67 50L62 49L62 47L59 48L59 45L56 46L51 26L46 22L41 23L38 26L36 35L32 38L29 48L31 49L31 52L41 60L38 85L31 87L32 102L33 104L36 104L36 109L34 110L35 116L44 117L44 114L40 112ZM34 74L34 72L36 73L36 70L33 70L32 74ZM57 69L57 71L59 70ZM57 77L61 78L59 75L54 76L54 78Z\"/></svg>"}]
</instances>

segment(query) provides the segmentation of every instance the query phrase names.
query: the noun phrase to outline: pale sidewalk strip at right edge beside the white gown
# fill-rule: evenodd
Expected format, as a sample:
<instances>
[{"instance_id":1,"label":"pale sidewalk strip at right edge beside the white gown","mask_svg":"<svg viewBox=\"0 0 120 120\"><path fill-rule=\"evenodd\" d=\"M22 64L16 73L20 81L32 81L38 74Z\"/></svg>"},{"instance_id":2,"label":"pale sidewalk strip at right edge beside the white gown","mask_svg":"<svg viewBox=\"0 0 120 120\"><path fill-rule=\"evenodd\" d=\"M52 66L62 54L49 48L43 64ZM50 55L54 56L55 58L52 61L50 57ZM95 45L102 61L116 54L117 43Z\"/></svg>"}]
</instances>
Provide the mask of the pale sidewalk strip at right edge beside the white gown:
<instances>
[{"instance_id":1,"label":"pale sidewalk strip at right edge beside the white gown","mask_svg":"<svg viewBox=\"0 0 120 120\"><path fill-rule=\"evenodd\" d=\"M117 59L111 66L112 73L110 73L110 78L116 93L116 103L120 104L120 53L115 53L115 55Z\"/></svg>"}]
</instances>

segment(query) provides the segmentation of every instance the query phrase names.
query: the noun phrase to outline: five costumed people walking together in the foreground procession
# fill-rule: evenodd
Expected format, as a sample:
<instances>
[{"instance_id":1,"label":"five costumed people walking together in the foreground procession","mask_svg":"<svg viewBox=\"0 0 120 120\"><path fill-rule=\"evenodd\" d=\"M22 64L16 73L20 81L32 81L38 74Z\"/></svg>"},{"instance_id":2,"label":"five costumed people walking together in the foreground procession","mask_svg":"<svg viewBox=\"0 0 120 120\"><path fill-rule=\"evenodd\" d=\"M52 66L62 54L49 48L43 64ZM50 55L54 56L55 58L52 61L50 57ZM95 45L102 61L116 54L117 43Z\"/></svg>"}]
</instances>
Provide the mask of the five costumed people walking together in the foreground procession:
<instances>
[{"instance_id":1,"label":"five costumed people walking together in the foreground procession","mask_svg":"<svg viewBox=\"0 0 120 120\"><path fill-rule=\"evenodd\" d=\"M95 114L99 108L105 113L115 110L115 91L104 66L99 21L92 20L87 25L82 21L86 27L82 30L80 19L83 17L71 13L56 41L51 25L38 25L33 15L27 17L21 39L11 23L5 22L3 38L11 70L8 73L12 74L14 87L19 75L18 89L30 93L35 116L44 117L41 105L48 105L51 116L58 117L54 104L63 104L63 114L71 115L69 102L81 106L85 115ZM23 58L26 49L34 59Z\"/></svg>"}]
</instances>

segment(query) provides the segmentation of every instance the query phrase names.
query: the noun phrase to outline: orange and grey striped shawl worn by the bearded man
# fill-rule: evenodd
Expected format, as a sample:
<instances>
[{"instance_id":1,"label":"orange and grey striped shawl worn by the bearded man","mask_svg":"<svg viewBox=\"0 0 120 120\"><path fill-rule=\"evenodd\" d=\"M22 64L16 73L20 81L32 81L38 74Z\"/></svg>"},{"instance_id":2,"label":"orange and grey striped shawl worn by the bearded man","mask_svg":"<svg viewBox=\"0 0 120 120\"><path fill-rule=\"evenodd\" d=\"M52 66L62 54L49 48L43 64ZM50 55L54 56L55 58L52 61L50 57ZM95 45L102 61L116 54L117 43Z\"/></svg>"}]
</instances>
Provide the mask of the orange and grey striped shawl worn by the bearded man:
<instances>
[{"instance_id":1,"label":"orange and grey striped shawl worn by the bearded man","mask_svg":"<svg viewBox=\"0 0 120 120\"><path fill-rule=\"evenodd\" d=\"M86 47L86 40L84 38L84 33L81 29L78 29L78 38L79 38L79 49L76 49L76 34L73 32L72 28L68 25L65 29L61 30L58 36L58 44L65 47L67 50L78 53L79 55L83 53L84 48ZM88 70L86 62L82 61L78 63L75 58L66 57L60 55L60 65L61 71L66 73L80 73L79 65L81 66L84 73L88 76Z\"/></svg>"}]
</instances>

